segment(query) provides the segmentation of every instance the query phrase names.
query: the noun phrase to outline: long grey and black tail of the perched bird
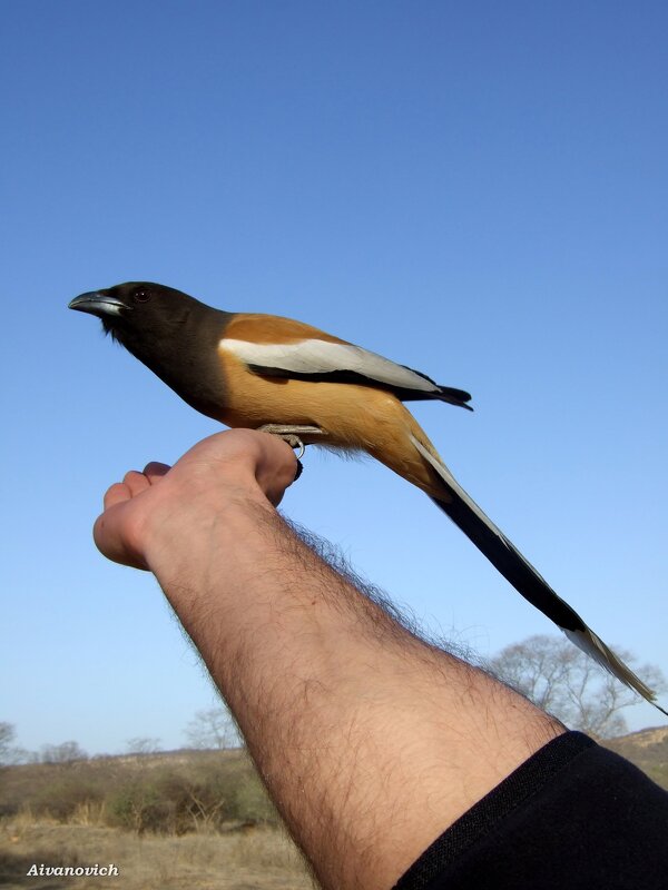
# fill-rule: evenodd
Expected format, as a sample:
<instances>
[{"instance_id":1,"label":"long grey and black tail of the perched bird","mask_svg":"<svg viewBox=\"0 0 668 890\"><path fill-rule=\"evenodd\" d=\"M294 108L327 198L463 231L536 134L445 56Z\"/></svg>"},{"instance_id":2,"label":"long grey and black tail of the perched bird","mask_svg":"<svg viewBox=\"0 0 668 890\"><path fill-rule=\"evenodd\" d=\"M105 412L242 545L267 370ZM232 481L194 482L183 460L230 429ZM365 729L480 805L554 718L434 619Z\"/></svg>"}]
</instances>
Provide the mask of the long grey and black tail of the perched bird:
<instances>
[{"instance_id":1,"label":"long grey and black tail of the perched bird","mask_svg":"<svg viewBox=\"0 0 668 890\"><path fill-rule=\"evenodd\" d=\"M434 457L415 436L409 435L415 448L435 469L448 488L450 500L431 498L436 506L475 544L518 593L554 622L572 643L668 716L668 712L657 704L656 693L636 676L630 668L584 624L578 613L550 587L514 544L466 494L445 464Z\"/></svg>"}]
</instances>

